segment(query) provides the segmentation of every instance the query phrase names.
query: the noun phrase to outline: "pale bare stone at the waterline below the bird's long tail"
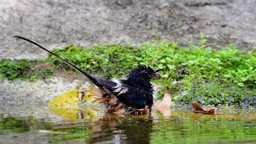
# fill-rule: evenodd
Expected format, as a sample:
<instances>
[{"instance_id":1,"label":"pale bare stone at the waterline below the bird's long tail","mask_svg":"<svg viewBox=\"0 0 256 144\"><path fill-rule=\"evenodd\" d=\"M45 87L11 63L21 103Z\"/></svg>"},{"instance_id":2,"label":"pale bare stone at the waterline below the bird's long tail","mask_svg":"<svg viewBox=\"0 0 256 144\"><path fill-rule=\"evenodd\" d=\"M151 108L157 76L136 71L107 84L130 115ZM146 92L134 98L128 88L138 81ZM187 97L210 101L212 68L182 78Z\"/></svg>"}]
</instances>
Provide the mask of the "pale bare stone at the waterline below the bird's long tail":
<instances>
[{"instance_id":1,"label":"pale bare stone at the waterline below the bird's long tail","mask_svg":"<svg viewBox=\"0 0 256 144\"><path fill-rule=\"evenodd\" d=\"M58 95L78 89L88 89L89 83L79 80L73 82L65 78L38 80L36 82L27 81L8 81L1 83L0 104L9 105L47 105Z\"/></svg>"}]
</instances>

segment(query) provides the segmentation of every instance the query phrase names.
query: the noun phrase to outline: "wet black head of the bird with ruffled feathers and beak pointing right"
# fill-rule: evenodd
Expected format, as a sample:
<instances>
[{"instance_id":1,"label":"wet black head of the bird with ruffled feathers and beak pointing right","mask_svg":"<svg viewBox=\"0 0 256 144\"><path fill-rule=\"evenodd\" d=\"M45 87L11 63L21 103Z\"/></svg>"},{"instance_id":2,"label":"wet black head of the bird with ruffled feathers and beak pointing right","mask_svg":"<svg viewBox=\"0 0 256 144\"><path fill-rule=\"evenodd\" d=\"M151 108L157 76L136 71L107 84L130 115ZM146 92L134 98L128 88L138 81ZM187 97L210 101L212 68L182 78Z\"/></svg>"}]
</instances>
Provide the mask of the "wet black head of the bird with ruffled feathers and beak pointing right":
<instances>
[{"instance_id":1,"label":"wet black head of the bird with ruffled feathers and beak pointing right","mask_svg":"<svg viewBox=\"0 0 256 144\"><path fill-rule=\"evenodd\" d=\"M139 82L139 83L150 83L150 80L153 79L155 73L161 69L152 69L146 67L146 65L139 65L137 68L131 71L131 74L128 77L128 81Z\"/></svg>"}]
</instances>

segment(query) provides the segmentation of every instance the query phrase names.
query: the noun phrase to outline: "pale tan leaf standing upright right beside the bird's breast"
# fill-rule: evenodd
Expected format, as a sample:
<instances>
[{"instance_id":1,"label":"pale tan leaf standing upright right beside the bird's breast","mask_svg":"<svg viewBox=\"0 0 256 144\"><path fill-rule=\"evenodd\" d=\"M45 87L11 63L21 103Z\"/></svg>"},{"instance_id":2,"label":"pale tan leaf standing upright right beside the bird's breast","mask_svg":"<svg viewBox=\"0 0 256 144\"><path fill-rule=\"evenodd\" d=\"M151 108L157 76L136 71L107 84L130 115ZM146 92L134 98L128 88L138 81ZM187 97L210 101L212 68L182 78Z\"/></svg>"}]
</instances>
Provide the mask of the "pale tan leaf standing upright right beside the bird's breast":
<instances>
[{"instance_id":1,"label":"pale tan leaf standing upright right beside the bird's breast","mask_svg":"<svg viewBox=\"0 0 256 144\"><path fill-rule=\"evenodd\" d=\"M158 105L155 106L156 110L159 110L164 117L170 117L171 116L171 93L165 93L164 98Z\"/></svg>"}]
</instances>

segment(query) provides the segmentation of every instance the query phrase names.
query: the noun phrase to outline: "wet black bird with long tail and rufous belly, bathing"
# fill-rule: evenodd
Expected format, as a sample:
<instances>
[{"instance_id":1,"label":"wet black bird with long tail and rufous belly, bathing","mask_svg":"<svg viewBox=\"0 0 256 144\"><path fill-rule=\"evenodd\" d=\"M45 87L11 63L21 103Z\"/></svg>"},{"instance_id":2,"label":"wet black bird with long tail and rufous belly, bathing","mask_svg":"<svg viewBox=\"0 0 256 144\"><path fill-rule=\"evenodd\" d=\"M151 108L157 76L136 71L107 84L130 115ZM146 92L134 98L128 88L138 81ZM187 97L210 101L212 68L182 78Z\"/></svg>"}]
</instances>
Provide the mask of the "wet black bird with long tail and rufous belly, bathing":
<instances>
[{"instance_id":1,"label":"wet black bird with long tail and rufous belly, bathing","mask_svg":"<svg viewBox=\"0 0 256 144\"><path fill-rule=\"evenodd\" d=\"M89 75L74 64L69 63L30 39L19 35L14 37L37 45L40 49L59 58L63 63L83 74L85 80L90 83L95 98L99 103L106 106L107 112L121 115L139 115L152 111L154 89L151 81L154 75L161 69L152 69L146 65L138 65L138 67L131 71L127 79L106 80ZM82 97L86 96L83 94Z\"/></svg>"}]
</instances>

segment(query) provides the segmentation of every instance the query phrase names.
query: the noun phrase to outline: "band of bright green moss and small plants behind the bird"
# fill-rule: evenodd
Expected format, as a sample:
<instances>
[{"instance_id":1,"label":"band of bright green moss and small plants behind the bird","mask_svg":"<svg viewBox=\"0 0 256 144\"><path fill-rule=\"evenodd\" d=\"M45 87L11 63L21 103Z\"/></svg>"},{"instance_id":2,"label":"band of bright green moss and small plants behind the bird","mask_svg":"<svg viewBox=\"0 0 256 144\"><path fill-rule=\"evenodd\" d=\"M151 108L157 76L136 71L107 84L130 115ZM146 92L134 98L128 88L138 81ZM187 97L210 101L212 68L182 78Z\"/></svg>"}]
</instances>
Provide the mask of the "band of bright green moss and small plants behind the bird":
<instances>
[{"instance_id":1,"label":"band of bright green moss and small plants behind the bird","mask_svg":"<svg viewBox=\"0 0 256 144\"><path fill-rule=\"evenodd\" d=\"M153 83L162 85L159 98L171 92L174 99L184 103L197 101L202 104L241 104L249 98L255 105L256 53L246 53L229 45L223 50L190 44L187 49L163 41L143 43L141 47L98 45L88 49L68 46L54 50L67 61L89 74L111 79L127 76L139 64L162 68ZM54 69L71 69L59 59L49 56L44 61L2 61L0 73L10 80L52 75L53 69L36 69L33 65L51 63ZM43 70L43 71L42 71ZM27 73L31 74L27 76ZM176 84L173 83L173 81ZM185 95L182 92L187 92ZM247 100L248 101L248 100Z\"/></svg>"}]
</instances>

